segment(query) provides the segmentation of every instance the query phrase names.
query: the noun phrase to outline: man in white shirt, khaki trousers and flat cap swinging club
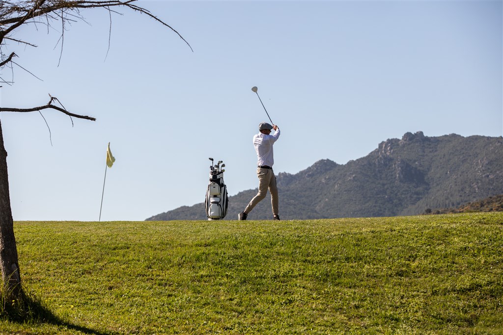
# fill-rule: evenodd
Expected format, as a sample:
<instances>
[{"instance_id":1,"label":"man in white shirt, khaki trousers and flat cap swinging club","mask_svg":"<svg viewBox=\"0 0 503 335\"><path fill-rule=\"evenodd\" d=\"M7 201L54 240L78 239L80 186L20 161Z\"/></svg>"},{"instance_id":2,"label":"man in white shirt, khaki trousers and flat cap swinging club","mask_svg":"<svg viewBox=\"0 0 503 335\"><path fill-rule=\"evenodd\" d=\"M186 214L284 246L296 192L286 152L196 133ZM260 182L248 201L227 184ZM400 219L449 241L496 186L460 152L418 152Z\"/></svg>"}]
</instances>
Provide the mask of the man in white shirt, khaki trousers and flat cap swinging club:
<instances>
[{"instance_id":1,"label":"man in white shirt, khaki trousers and flat cap swinging club","mask_svg":"<svg viewBox=\"0 0 503 335\"><path fill-rule=\"evenodd\" d=\"M271 130L274 129L274 135ZM254 135L253 145L257 152L259 166L257 167L257 176L259 177L259 193L251 199L246 208L239 213L238 218L245 220L248 213L266 197L267 190L271 192L271 205L273 207L273 220L279 220L278 215L278 187L276 186L276 176L273 172L274 156L273 145L280 137L278 126L263 122L259 125L259 134Z\"/></svg>"}]
</instances>

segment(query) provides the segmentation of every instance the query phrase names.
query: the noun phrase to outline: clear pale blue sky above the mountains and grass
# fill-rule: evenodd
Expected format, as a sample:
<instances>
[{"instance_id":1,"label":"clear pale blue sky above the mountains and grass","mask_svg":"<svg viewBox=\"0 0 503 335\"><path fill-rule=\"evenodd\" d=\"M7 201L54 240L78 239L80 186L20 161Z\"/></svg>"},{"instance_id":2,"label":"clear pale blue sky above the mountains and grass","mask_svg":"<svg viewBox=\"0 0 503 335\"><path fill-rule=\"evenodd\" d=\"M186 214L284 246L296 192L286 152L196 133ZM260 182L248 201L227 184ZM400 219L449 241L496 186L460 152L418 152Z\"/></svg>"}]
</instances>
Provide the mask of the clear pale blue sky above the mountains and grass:
<instances>
[{"instance_id":1,"label":"clear pale blue sky above the mountains and grass","mask_svg":"<svg viewBox=\"0 0 503 335\"><path fill-rule=\"evenodd\" d=\"M209 157L225 163L230 195L256 188L251 139L268 118L252 86L281 129L276 173L346 164L406 132L501 136L502 4L137 3L193 51L125 9L111 19L81 11L62 47L60 23L24 25L13 38L37 47L2 46L19 66L0 72L14 82L2 84L0 106L44 105L51 94L97 121L0 114L13 218L97 221L101 208L102 221L144 220L201 203Z\"/></svg>"}]
</instances>

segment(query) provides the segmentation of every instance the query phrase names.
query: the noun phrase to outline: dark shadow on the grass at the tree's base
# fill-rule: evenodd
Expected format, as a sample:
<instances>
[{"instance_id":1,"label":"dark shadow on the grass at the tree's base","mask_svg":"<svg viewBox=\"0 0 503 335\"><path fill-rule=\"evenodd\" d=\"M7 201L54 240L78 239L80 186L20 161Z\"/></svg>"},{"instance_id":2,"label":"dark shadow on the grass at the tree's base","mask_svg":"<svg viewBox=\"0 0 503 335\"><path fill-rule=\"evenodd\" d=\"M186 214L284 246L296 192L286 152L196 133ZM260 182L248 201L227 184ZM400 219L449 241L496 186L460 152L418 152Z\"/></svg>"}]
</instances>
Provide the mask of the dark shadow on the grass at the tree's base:
<instances>
[{"instance_id":1,"label":"dark shadow on the grass at the tree's base","mask_svg":"<svg viewBox=\"0 0 503 335\"><path fill-rule=\"evenodd\" d=\"M68 329L77 330L85 334L109 335L109 332L102 332L76 324L69 323L54 315L47 306L36 296L27 293L24 289L16 299L8 299L4 292L0 296L0 320L7 320L14 323L28 324L51 324Z\"/></svg>"}]
</instances>

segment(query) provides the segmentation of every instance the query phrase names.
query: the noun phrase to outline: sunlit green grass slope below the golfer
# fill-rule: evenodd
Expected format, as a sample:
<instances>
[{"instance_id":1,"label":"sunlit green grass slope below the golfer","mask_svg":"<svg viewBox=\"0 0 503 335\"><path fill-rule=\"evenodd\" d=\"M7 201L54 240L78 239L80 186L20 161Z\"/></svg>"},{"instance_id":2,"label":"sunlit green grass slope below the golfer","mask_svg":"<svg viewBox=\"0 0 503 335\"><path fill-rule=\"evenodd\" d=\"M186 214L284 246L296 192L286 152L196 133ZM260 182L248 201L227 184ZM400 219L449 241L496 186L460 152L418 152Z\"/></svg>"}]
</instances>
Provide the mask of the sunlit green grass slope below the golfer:
<instances>
[{"instance_id":1,"label":"sunlit green grass slope below the golfer","mask_svg":"<svg viewBox=\"0 0 503 335\"><path fill-rule=\"evenodd\" d=\"M503 333L502 212L14 226L54 317L0 333Z\"/></svg>"}]
</instances>

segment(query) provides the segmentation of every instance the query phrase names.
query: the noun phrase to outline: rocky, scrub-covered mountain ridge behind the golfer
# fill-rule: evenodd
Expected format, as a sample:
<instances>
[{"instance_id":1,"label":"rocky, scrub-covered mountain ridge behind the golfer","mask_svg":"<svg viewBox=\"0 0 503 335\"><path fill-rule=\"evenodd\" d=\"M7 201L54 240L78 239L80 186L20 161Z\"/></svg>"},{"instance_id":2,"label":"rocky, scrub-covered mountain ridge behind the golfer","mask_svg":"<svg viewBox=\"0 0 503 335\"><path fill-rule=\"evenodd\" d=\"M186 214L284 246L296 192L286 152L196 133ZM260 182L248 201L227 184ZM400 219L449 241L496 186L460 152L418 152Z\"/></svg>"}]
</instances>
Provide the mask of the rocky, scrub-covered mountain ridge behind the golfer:
<instances>
[{"instance_id":1,"label":"rocky, scrub-covered mountain ridge behind the golfer","mask_svg":"<svg viewBox=\"0 0 503 335\"><path fill-rule=\"evenodd\" d=\"M503 138L423 132L388 139L367 156L338 164L315 162L277 174L282 219L421 214L503 193ZM256 189L229 197L225 219L237 219ZM248 219L272 218L269 195ZM206 219L204 203L147 220Z\"/></svg>"}]
</instances>

